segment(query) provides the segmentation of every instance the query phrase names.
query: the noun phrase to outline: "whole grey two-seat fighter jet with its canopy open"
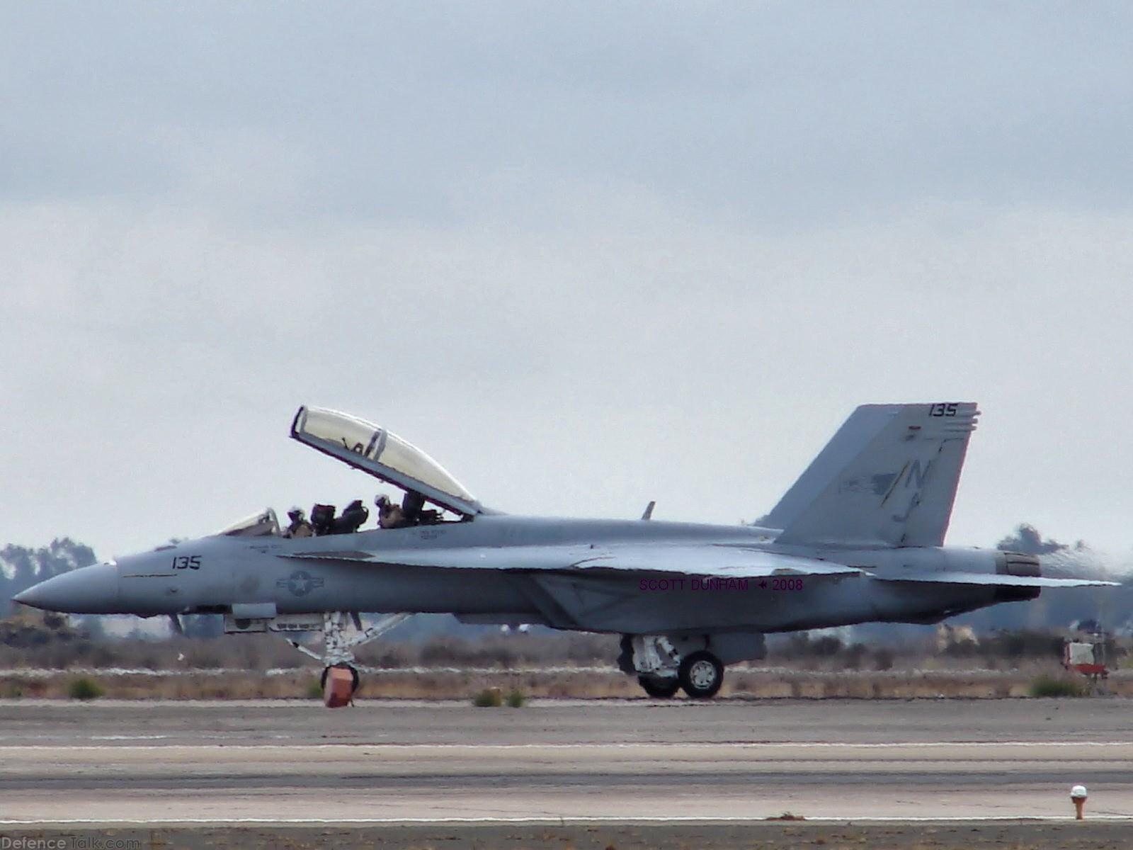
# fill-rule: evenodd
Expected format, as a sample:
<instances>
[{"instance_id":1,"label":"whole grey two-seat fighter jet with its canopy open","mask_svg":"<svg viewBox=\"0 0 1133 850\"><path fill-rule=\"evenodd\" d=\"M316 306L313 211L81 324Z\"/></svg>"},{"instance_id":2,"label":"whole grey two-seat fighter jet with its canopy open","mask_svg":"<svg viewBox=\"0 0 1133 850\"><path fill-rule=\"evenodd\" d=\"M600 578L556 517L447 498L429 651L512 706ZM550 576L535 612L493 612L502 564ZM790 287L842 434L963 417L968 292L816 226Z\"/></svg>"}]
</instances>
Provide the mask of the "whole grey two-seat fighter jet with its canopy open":
<instances>
[{"instance_id":1,"label":"whole grey two-seat fighter jet with its canopy open","mask_svg":"<svg viewBox=\"0 0 1133 850\"><path fill-rule=\"evenodd\" d=\"M764 657L768 632L934 623L1043 587L1114 584L943 545L978 416L972 402L861 406L767 516L733 526L654 520L651 503L630 520L503 513L387 430L301 407L295 440L403 491L400 505L378 505L386 527L363 529L358 503L339 517L318 505L314 534L291 536L269 509L15 598L174 624L218 613L229 632L322 631L322 652L292 643L324 665L330 706L358 687L353 649L423 612L619 634L617 664L646 694L705 699L727 664ZM364 628L361 613L385 617Z\"/></svg>"}]
</instances>

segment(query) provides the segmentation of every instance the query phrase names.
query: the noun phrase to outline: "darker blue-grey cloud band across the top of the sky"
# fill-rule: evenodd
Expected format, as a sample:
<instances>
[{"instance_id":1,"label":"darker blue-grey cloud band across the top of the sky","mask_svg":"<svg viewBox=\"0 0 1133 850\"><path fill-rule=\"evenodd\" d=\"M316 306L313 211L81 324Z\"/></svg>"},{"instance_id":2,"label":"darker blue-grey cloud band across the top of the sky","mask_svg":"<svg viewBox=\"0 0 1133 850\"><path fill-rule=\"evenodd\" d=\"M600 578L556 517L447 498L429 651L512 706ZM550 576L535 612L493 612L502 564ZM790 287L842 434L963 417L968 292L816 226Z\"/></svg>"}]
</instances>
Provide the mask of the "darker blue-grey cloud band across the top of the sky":
<instances>
[{"instance_id":1,"label":"darker blue-grey cloud band across the top of the sky","mask_svg":"<svg viewBox=\"0 0 1133 850\"><path fill-rule=\"evenodd\" d=\"M17 195L436 220L534 165L769 221L1128 197L1118 6L66 8L8 12Z\"/></svg>"}]
</instances>

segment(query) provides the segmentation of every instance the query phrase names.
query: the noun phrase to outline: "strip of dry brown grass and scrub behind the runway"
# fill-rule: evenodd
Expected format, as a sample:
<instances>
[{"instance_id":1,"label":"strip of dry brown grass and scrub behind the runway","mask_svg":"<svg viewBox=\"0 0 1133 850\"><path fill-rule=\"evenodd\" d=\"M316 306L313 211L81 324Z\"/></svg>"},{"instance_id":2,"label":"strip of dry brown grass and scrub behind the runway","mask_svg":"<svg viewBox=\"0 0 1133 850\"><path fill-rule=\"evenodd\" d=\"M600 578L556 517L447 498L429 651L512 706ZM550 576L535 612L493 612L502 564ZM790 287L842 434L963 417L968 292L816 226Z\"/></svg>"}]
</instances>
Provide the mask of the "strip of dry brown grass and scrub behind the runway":
<instances>
[{"instance_id":1,"label":"strip of dry brown grass and scrub behind the runway","mask_svg":"<svg viewBox=\"0 0 1133 850\"><path fill-rule=\"evenodd\" d=\"M26 622L25 622L26 621ZM9 623L35 621L9 618ZM99 639L40 623L34 640L0 644L0 697L67 698L85 674L108 697L224 699L317 697L321 672L295 666L295 649L278 635L215 638ZM25 629L24 631L27 631ZM33 630L34 631L34 630ZM1026 697L1036 681L1063 680L1062 638L1050 632L1002 632L979 646L940 649L934 640L892 647L845 645L830 636L773 636L763 664L729 669L722 696L758 699L906 699ZM317 646L317 644L316 644ZM1115 647L1113 657L1133 655ZM382 640L359 653L361 698L471 699L486 688L533 698L644 698L634 677L613 669L616 635L476 632L419 641ZM5 670L8 668L8 670ZM1074 677L1070 677L1074 679ZM1084 679L1077 681L1088 685ZM315 687L313 688L313 683ZM1110 692L1133 696L1133 669L1118 670Z\"/></svg>"}]
</instances>

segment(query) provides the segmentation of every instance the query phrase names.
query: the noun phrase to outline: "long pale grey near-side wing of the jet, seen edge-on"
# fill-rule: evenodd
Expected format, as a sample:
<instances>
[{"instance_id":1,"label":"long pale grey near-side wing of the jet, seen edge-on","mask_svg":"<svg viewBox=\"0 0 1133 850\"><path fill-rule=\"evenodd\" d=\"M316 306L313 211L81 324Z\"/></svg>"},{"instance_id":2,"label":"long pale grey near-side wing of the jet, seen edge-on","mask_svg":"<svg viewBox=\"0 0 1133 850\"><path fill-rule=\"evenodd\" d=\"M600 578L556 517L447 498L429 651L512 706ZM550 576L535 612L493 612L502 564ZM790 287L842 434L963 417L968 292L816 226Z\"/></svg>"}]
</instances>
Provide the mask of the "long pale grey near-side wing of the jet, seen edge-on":
<instances>
[{"instance_id":1,"label":"long pale grey near-side wing of the jet, seen edge-on","mask_svg":"<svg viewBox=\"0 0 1133 850\"><path fill-rule=\"evenodd\" d=\"M445 569L673 573L705 578L860 575L857 567L726 545L462 546L384 552L308 552L288 558Z\"/></svg>"}]
</instances>

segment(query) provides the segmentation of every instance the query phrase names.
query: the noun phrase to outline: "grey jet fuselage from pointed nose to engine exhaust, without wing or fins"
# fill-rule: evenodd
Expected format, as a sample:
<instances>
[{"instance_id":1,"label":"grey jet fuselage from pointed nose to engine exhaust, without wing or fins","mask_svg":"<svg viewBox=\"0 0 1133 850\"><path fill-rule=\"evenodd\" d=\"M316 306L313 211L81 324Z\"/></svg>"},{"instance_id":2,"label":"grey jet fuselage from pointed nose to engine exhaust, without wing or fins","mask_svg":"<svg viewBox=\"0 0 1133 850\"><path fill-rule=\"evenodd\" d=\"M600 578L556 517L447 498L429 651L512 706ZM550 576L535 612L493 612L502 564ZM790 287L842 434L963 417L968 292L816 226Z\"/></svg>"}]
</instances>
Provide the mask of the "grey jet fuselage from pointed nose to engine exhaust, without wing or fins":
<instances>
[{"instance_id":1,"label":"grey jet fuselage from pointed nose to engine exhaust, without wing or fins","mask_svg":"<svg viewBox=\"0 0 1133 850\"><path fill-rule=\"evenodd\" d=\"M287 538L210 536L41 583L20 601L94 614L327 611L452 613L485 622L533 622L593 631L785 631L866 621L930 622L1007 601L1003 589L893 580L902 570L996 572L1003 554L955 547L791 547L774 529L644 520L482 515L356 534ZM493 558L562 546L722 546L862 568L859 575L691 578L658 571L554 569ZM429 554L466 550L465 567ZM389 560L383 556L389 554ZM438 559L451 562L451 558ZM406 562L410 561L410 562ZM887 579L887 580L879 580ZM566 594L570 605L559 604ZM577 597L577 598L576 598Z\"/></svg>"}]
</instances>

